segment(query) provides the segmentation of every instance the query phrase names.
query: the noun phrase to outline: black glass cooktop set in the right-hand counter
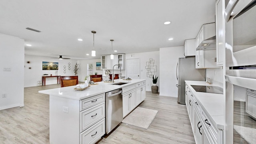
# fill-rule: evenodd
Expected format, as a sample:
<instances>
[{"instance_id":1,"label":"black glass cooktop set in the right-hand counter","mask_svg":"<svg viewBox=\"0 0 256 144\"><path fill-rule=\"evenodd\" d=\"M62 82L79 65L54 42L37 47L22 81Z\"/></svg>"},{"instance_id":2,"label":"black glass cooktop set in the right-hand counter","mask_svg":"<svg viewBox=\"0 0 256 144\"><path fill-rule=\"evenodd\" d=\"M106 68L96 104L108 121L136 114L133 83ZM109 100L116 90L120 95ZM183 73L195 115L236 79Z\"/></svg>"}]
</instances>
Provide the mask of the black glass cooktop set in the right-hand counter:
<instances>
[{"instance_id":1,"label":"black glass cooktop set in the right-hand counter","mask_svg":"<svg viewBox=\"0 0 256 144\"><path fill-rule=\"evenodd\" d=\"M219 86L198 86L191 85L196 92L207 92L207 93L215 93L215 94L223 94L223 88Z\"/></svg>"}]
</instances>

